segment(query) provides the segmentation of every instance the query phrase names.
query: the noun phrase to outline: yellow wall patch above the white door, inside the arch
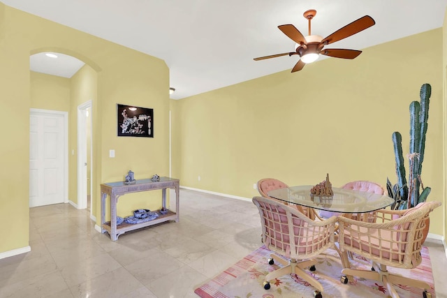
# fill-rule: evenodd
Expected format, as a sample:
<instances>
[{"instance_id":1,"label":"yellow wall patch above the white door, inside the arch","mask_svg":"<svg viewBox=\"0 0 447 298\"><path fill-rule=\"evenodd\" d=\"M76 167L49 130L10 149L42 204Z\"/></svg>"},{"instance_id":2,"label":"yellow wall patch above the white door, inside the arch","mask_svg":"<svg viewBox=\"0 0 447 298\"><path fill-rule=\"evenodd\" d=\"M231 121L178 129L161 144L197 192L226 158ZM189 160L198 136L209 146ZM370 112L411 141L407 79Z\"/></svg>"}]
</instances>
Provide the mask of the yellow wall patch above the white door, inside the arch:
<instances>
[{"instance_id":1,"label":"yellow wall patch above the white door, inside the arch","mask_svg":"<svg viewBox=\"0 0 447 298\"><path fill-rule=\"evenodd\" d=\"M30 72L31 107L43 110L70 110L70 79Z\"/></svg>"}]
</instances>

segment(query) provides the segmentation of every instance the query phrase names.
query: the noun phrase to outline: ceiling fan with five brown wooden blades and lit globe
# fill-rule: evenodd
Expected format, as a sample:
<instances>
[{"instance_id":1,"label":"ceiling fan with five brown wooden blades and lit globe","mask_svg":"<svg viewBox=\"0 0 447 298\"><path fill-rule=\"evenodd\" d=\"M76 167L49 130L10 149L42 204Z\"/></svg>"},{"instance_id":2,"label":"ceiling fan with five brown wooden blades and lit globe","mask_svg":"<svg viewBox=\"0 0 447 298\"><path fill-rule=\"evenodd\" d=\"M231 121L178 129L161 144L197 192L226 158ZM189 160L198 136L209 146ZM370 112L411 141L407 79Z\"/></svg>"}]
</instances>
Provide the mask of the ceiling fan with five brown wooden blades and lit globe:
<instances>
[{"instance_id":1,"label":"ceiling fan with five brown wooden blades and lit globe","mask_svg":"<svg viewBox=\"0 0 447 298\"><path fill-rule=\"evenodd\" d=\"M372 17L369 17L369 15L365 15L364 17L360 17L360 19L347 24L345 27L338 29L334 33L330 34L328 37L323 38L319 35L311 35L311 20L315 17L316 10L306 10L303 15L307 20L309 20L308 36L303 36L302 33L298 31L298 29L296 29L295 26L293 26L292 24L278 26L279 30L281 30L284 34L286 34L286 36L291 38L291 40L295 41L295 52L258 57L254 58L254 60L258 61L286 55L288 55L289 57L292 55L300 55L300 60L298 60L297 64L295 64L295 66L293 66L292 68L292 73L294 73L295 71L302 70L302 68L305 67L306 64L316 61L319 54L335 58L354 59L358 57L358 55L360 55L362 51L347 49L323 49L323 47L325 47L325 45L329 45L330 43L335 43L338 40L342 40L346 37L354 35L376 24Z\"/></svg>"}]
</instances>

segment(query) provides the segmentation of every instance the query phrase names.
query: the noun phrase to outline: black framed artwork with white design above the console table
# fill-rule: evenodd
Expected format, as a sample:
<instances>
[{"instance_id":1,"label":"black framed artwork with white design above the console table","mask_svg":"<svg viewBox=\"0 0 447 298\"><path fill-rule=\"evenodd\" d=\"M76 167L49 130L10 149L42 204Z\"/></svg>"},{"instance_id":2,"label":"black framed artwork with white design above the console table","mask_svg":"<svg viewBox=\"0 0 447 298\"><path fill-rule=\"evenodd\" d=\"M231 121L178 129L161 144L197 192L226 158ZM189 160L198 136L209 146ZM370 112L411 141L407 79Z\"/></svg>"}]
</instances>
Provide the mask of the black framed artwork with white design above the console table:
<instances>
[{"instance_id":1,"label":"black framed artwork with white design above the console table","mask_svg":"<svg viewBox=\"0 0 447 298\"><path fill-rule=\"evenodd\" d=\"M154 109L117 104L119 137L154 137Z\"/></svg>"}]
</instances>

